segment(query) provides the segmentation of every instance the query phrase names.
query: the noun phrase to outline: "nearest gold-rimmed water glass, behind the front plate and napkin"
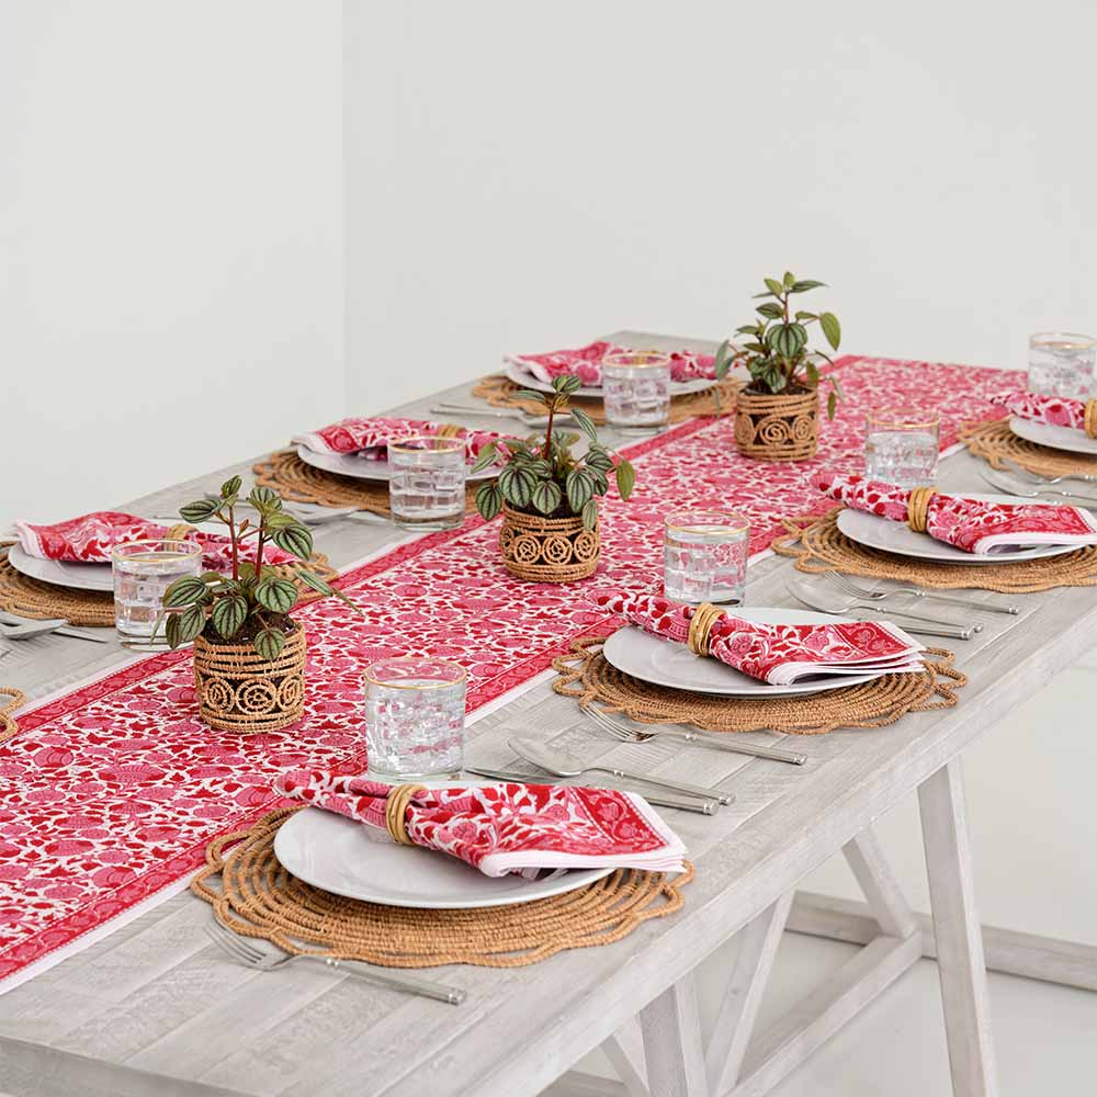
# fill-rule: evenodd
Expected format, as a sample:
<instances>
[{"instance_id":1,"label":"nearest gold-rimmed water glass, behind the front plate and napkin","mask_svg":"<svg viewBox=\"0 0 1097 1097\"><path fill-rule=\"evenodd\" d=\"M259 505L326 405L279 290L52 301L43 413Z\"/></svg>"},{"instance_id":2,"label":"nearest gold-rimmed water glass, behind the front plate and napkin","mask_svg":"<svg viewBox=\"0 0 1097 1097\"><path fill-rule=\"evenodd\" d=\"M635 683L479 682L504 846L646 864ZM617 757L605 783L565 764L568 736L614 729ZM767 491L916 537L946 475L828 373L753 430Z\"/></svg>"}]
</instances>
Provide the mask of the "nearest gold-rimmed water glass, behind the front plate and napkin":
<instances>
[{"instance_id":1,"label":"nearest gold-rimmed water glass, behind the front plate and napkin","mask_svg":"<svg viewBox=\"0 0 1097 1097\"><path fill-rule=\"evenodd\" d=\"M365 747L371 777L457 777L464 764L463 667L414 656L365 671Z\"/></svg>"}]
</instances>

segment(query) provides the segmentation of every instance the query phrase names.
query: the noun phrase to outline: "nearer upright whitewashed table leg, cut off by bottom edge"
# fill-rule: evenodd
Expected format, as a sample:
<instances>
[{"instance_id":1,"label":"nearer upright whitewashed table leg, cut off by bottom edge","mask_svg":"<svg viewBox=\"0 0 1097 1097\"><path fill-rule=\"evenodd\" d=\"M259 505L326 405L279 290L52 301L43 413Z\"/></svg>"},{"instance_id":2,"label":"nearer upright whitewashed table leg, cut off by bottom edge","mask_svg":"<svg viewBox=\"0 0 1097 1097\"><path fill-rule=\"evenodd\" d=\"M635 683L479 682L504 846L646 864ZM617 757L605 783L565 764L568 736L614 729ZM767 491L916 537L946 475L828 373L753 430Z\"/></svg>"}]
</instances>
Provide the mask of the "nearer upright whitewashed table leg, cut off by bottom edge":
<instances>
[{"instance_id":1,"label":"nearer upright whitewashed table leg, cut off by bottom edge","mask_svg":"<svg viewBox=\"0 0 1097 1097\"><path fill-rule=\"evenodd\" d=\"M640 1026L652 1097L708 1097L693 973L648 1003Z\"/></svg>"}]
</instances>

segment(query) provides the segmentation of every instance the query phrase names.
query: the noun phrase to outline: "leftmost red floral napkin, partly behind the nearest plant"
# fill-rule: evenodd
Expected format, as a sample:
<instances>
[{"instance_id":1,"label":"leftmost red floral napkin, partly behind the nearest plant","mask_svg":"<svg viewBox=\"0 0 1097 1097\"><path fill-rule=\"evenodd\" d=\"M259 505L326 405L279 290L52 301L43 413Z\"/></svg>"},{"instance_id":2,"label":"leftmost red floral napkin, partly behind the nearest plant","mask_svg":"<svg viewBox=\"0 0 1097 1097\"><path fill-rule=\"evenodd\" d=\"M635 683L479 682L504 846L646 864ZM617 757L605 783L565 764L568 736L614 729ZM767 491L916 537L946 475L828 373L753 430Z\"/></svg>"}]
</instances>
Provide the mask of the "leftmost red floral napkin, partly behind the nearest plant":
<instances>
[{"instance_id":1,"label":"leftmost red floral napkin, partly behind the nearest plant","mask_svg":"<svg viewBox=\"0 0 1097 1097\"><path fill-rule=\"evenodd\" d=\"M116 510L97 510L80 518L53 525L32 525L15 521L20 547L29 556L82 564L109 564L111 550L131 541L147 541L166 536L171 527L149 522ZM183 540L202 545L202 559L210 570L226 570L233 566L233 542L220 533L190 530ZM252 542L247 542L253 553ZM263 545L263 559L271 565L289 564L295 556L275 545Z\"/></svg>"}]
</instances>

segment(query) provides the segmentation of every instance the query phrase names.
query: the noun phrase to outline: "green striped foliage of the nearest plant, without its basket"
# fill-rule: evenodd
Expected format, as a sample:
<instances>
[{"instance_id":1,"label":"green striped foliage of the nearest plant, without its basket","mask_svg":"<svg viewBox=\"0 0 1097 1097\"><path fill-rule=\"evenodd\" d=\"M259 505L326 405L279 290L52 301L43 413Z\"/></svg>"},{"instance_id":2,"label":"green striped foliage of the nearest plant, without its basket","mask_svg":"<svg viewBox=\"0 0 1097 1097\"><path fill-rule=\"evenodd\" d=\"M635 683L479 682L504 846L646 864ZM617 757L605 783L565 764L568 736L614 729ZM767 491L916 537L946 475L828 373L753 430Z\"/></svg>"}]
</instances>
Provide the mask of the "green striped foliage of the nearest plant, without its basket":
<instances>
[{"instance_id":1,"label":"green striped foliage of the nearest plant, without its basket","mask_svg":"<svg viewBox=\"0 0 1097 1097\"><path fill-rule=\"evenodd\" d=\"M258 521L236 520L240 477L234 476L222 484L218 498L199 499L180 508L184 521L216 519L228 527L233 573L189 575L168 587L163 608L179 611L166 614L165 634L169 647L179 647L204 633L215 643L218 637L250 640L262 658L276 659L285 646L287 633L296 627L289 614L297 604L297 585L263 563L263 547L273 544L307 561L313 552L313 534L282 509L282 499L269 487L253 487L246 502ZM253 551L246 552L252 547L249 542L253 542ZM293 574L313 590L333 595L353 606L346 595L307 568L296 567Z\"/></svg>"}]
</instances>

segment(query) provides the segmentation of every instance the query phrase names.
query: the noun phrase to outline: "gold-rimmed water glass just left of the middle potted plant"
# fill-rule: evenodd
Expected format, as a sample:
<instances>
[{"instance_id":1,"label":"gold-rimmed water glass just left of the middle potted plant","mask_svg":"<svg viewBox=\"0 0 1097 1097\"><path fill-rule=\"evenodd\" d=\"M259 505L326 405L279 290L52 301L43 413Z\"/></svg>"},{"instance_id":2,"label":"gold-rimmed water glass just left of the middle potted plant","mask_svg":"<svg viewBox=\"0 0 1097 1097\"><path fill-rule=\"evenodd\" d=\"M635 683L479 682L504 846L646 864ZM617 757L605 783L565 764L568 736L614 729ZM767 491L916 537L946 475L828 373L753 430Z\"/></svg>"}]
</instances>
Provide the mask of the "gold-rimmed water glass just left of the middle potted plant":
<instances>
[{"instance_id":1,"label":"gold-rimmed water glass just left of the middle potted plant","mask_svg":"<svg viewBox=\"0 0 1097 1097\"><path fill-rule=\"evenodd\" d=\"M465 443L405 438L388 443L388 502L404 530L452 530L465 519Z\"/></svg>"}]
</instances>

